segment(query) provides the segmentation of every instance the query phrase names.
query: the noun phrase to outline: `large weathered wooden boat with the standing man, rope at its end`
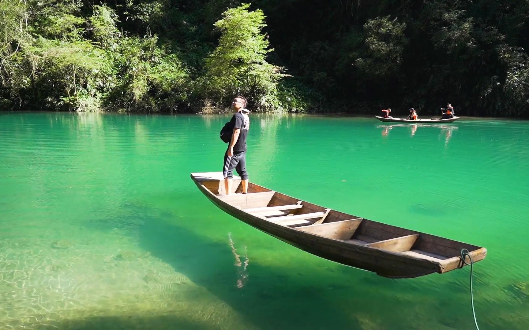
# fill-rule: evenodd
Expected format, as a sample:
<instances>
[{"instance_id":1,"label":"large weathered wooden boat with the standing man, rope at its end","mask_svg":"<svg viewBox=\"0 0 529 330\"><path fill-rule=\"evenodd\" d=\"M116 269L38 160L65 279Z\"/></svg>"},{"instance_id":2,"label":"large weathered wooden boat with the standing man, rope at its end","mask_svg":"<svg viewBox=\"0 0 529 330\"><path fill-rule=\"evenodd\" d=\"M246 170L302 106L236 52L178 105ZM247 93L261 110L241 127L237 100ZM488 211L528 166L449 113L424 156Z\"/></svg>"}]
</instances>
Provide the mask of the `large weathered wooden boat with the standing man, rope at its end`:
<instances>
[{"instance_id":1,"label":"large weathered wooden boat with the standing man, rope at its end","mask_svg":"<svg viewBox=\"0 0 529 330\"><path fill-rule=\"evenodd\" d=\"M457 269L461 249L474 262L487 250L467 243L360 218L233 178L233 192L224 193L221 172L191 173L199 190L218 208L292 246L343 265L389 278L412 278ZM469 260L467 259L467 262Z\"/></svg>"}]
</instances>

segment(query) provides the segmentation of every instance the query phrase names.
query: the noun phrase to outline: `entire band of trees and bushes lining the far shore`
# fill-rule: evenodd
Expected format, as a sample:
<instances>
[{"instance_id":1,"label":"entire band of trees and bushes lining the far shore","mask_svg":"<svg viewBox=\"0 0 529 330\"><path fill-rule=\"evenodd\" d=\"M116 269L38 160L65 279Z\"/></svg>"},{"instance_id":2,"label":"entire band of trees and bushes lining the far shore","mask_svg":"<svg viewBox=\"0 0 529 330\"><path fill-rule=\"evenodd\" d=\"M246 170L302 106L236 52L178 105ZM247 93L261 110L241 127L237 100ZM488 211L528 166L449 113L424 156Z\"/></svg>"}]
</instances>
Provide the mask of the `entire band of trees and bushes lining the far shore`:
<instances>
[{"instance_id":1,"label":"entire band of trees and bushes lining the far shore","mask_svg":"<svg viewBox=\"0 0 529 330\"><path fill-rule=\"evenodd\" d=\"M7 0L0 109L529 117L529 3ZM266 14L266 16L265 16ZM399 111L400 112L400 111Z\"/></svg>"}]
</instances>

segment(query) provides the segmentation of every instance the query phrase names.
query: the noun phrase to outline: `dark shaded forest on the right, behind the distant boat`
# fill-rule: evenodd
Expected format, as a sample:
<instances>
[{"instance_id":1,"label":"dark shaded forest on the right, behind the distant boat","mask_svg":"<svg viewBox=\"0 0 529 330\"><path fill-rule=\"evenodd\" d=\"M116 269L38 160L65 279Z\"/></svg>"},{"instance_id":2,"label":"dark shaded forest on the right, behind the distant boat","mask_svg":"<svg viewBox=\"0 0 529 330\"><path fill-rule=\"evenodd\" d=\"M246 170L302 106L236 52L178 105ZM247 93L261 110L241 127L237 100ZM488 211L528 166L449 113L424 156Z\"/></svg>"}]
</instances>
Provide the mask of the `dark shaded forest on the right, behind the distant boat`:
<instances>
[{"instance_id":1,"label":"dark shaded forest on the right, behind the distant boat","mask_svg":"<svg viewBox=\"0 0 529 330\"><path fill-rule=\"evenodd\" d=\"M526 0L254 5L267 14L276 63L326 102L370 114L439 114L451 102L459 115L529 115Z\"/></svg>"}]
</instances>

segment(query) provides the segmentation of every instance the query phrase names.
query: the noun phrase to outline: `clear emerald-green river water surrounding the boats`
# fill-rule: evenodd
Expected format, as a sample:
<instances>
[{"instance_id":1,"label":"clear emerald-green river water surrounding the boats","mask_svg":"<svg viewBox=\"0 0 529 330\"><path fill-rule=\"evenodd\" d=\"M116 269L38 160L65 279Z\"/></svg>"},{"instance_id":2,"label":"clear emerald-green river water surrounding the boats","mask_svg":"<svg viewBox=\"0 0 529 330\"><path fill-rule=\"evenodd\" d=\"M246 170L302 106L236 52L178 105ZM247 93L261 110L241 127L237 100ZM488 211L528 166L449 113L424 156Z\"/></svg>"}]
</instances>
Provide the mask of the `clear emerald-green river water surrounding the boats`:
<instances>
[{"instance_id":1,"label":"clear emerald-green river water surrounding the boats","mask_svg":"<svg viewBox=\"0 0 529 330\"><path fill-rule=\"evenodd\" d=\"M0 329L470 329L469 268L386 279L207 201L225 116L0 115ZM529 122L252 115L250 180L488 249L481 329L528 328Z\"/></svg>"}]
</instances>

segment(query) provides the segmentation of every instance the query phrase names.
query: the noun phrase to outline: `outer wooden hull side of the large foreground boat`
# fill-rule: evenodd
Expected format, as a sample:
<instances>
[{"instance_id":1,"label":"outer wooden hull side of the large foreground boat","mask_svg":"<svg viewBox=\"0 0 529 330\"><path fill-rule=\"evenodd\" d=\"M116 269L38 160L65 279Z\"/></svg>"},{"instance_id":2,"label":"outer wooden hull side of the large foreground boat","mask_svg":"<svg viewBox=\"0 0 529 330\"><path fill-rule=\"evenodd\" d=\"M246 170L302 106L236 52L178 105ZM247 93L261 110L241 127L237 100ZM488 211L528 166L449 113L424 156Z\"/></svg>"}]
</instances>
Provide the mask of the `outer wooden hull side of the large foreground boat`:
<instances>
[{"instance_id":1,"label":"outer wooden hull side of the large foreground boat","mask_svg":"<svg viewBox=\"0 0 529 330\"><path fill-rule=\"evenodd\" d=\"M191 178L210 201L218 208L234 216L234 218L301 250L343 265L373 271L380 276L388 278L413 278L434 272L443 273L455 269L461 264L461 258L459 257L443 260L442 262L419 259L403 253L352 244L343 240L327 238L273 223L224 202L209 191L202 182L196 180L193 174L191 174ZM369 220L362 219L362 221ZM377 224L375 222L371 224L373 223ZM471 257L475 261L485 258L485 254L486 250L483 248L471 251Z\"/></svg>"}]
</instances>

